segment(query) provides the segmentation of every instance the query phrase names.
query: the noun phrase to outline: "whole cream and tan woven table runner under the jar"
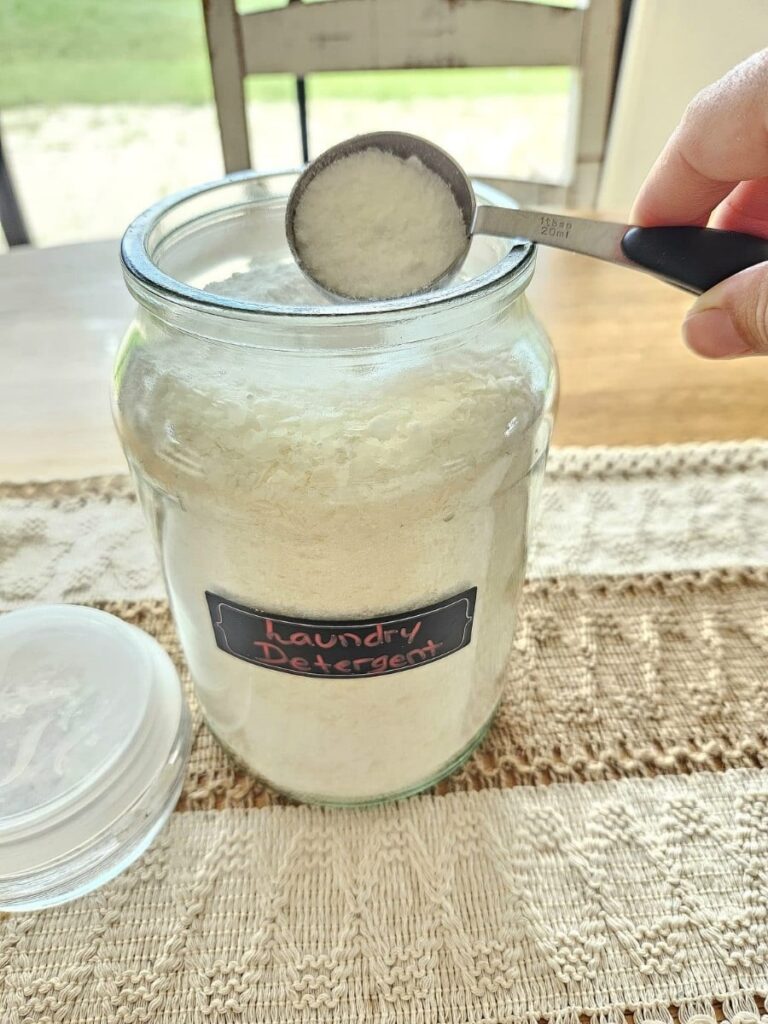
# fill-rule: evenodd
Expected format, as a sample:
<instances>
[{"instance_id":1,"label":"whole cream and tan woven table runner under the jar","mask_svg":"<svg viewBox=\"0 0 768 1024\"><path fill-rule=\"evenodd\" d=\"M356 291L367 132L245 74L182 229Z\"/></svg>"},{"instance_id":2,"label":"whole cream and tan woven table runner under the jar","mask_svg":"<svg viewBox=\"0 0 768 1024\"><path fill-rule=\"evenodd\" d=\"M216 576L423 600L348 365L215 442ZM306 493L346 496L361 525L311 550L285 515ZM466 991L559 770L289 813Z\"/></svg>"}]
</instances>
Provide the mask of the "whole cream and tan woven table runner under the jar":
<instances>
[{"instance_id":1,"label":"whole cream and tan woven table runner under the jar","mask_svg":"<svg viewBox=\"0 0 768 1024\"><path fill-rule=\"evenodd\" d=\"M435 794L275 806L190 694L148 854L0 918L2 1024L759 1024L767 497L765 443L555 453L501 713ZM125 479L0 485L0 606L42 600L153 633L188 690Z\"/></svg>"}]
</instances>

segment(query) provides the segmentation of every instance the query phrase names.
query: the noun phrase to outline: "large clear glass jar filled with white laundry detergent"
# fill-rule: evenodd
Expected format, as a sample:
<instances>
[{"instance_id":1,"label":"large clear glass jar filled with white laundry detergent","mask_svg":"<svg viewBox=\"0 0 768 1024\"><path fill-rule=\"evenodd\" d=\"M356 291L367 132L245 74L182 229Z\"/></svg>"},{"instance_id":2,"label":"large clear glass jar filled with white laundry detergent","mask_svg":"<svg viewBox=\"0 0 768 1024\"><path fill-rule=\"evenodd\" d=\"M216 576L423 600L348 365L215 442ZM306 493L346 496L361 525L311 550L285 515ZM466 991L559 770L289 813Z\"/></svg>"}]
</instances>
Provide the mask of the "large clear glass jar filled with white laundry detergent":
<instances>
[{"instance_id":1,"label":"large clear glass jar filled with white laundry detergent","mask_svg":"<svg viewBox=\"0 0 768 1024\"><path fill-rule=\"evenodd\" d=\"M233 175L129 227L114 410L211 730L285 793L370 803L493 718L556 367L532 246L477 238L449 287L334 305L286 244L294 180Z\"/></svg>"}]
</instances>

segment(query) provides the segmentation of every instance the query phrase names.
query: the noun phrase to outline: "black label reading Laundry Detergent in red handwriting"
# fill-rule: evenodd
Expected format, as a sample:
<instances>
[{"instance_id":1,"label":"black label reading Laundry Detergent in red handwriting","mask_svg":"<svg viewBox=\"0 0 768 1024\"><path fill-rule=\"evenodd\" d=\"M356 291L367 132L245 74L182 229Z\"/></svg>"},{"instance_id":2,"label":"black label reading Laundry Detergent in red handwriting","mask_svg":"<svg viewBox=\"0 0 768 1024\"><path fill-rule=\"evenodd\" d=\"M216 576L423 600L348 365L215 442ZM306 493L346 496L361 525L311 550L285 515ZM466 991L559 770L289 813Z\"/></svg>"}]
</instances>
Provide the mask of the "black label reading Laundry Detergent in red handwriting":
<instances>
[{"instance_id":1,"label":"black label reading Laundry Detergent in red handwriting","mask_svg":"<svg viewBox=\"0 0 768 1024\"><path fill-rule=\"evenodd\" d=\"M439 662L472 639L477 588L416 611L375 618L287 618L206 592L221 650L294 676L386 676Z\"/></svg>"}]
</instances>

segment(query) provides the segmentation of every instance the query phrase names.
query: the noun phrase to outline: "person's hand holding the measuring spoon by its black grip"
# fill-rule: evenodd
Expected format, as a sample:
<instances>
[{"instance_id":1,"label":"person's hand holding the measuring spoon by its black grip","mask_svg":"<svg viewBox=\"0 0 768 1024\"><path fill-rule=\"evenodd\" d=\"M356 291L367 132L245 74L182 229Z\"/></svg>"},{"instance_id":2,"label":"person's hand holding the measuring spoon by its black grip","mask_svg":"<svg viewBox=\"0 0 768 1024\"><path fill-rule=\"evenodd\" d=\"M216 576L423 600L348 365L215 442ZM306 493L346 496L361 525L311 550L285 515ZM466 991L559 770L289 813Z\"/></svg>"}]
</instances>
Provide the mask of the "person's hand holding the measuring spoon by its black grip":
<instances>
[{"instance_id":1,"label":"person's hand holding the measuring spoon by its black grip","mask_svg":"<svg viewBox=\"0 0 768 1024\"><path fill-rule=\"evenodd\" d=\"M688 105L640 189L632 222L709 224L768 238L768 49ZM768 263L699 296L683 337L708 358L768 354Z\"/></svg>"}]
</instances>

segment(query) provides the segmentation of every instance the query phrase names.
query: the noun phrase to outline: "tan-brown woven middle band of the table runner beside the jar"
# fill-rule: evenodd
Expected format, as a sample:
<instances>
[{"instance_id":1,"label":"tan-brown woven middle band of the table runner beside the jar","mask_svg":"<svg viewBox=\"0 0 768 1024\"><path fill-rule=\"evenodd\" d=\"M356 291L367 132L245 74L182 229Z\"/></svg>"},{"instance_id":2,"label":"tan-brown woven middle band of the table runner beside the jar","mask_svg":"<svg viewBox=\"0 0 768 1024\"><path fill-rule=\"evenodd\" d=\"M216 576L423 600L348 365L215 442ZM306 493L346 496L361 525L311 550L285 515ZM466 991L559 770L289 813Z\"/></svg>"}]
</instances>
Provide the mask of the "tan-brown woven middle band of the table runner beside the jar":
<instances>
[{"instance_id":1,"label":"tan-brown woven middle band of the table runner beside the jar","mask_svg":"<svg viewBox=\"0 0 768 1024\"><path fill-rule=\"evenodd\" d=\"M288 803L202 722L165 601L100 602L165 645L195 745L181 810ZM437 792L768 765L768 568L525 586L504 699Z\"/></svg>"}]
</instances>

